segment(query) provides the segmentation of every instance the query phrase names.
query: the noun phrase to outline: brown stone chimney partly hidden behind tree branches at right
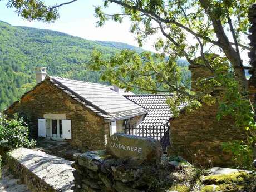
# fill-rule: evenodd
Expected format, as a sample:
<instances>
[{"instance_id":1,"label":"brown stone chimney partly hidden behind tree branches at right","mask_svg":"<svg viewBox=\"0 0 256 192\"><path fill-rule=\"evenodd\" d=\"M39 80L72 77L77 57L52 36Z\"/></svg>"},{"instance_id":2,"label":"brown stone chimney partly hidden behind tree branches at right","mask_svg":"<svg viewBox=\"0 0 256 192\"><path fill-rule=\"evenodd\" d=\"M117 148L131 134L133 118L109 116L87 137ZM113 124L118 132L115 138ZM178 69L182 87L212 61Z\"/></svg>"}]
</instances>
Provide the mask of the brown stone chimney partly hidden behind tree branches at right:
<instances>
[{"instance_id":1,"label":"brown stone chimney partly hidden behind tree branches at right","mask_svg":"<svg viewBox=\"0 0 256 192\"><path fill-rule=\"evenodd\" d=\"M219 57L219 55L216 54L208 54L205 55L208 59L214 59L216 57ZM197 64L202 64L203 61L201 61L201 57L195 58L193 60ZM213 77L213 73L209 70L206 66L200 66L200 65L189 65L189 70L191 71L191 91L198 91L198 88L196 88L196 82L199 78L210 78Z\"/></svg>"}]
</instances>

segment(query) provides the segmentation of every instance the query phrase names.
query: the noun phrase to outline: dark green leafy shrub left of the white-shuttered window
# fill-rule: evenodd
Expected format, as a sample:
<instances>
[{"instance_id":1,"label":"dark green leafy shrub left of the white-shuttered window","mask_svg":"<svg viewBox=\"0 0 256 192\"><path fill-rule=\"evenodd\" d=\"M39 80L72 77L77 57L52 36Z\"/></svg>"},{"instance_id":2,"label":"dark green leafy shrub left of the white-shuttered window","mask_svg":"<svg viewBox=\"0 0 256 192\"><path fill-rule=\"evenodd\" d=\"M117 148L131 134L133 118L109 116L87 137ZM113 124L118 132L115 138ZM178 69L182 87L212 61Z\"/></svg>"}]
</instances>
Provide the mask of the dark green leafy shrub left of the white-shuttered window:
<instances>
[{"instance_id":1,"label":"dark green leafy shrub left of the white-shuttered window","mask_svg":"<svg viewBox=\"0 0 256 192\"><path fill-rule=\"evenodd\" d=\"M0 148L11 150L17 147L32 148L35 140L29 139L28 127L22 117L14 115L13 119L6 119L0 114Z\"/></svg>"}]
</instances>

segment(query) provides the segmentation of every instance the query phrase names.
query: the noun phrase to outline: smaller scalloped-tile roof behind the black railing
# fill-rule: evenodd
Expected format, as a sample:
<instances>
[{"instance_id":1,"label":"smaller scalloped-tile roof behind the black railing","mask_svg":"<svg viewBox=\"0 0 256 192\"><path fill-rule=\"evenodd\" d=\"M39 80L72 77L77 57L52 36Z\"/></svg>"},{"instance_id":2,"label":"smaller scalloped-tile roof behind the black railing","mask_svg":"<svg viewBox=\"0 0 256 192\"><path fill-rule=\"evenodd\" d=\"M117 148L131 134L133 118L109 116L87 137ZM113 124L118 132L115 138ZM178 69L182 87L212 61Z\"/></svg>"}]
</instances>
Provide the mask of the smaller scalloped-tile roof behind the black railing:
<instances>
[{"instance_id":1,"label":"smaller scalloped-tile roof behind the black railing","mask_svg":"<svg viewBox=\"0 0 256 192\"><path fill-rule=\"evenodd\" d=\"M130 95L127 99L135 102L149 111L140 125L163 125L168 123L173 114L170 107L166 104L167 97L173 95ZM185 105L180 106L183 107Z\"/></svg>"}]
</instances>

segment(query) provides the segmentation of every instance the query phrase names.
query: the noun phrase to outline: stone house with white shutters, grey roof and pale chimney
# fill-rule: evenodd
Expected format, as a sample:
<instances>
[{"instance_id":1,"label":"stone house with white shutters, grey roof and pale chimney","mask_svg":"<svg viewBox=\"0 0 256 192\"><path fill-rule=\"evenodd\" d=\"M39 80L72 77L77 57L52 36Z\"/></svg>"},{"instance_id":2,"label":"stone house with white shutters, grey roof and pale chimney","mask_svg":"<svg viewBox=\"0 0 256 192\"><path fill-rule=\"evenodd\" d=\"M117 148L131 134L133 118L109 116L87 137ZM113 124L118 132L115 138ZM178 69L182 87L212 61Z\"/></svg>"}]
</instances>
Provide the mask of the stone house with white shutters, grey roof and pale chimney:
<instances>
[{"instance_id":1,"label":"stone house with white shutters, grey roof and pale chimney","mask_svg":"<svg viewBox=\"0 0 256 192\"><path fill-rule=\"evenodd\" d=\"M128 122L140 123L147 110L130 101L115 86L47 76L36 68L37 85L14 102L4 114L29 119L35 137L66 140L82 150L104 149L114 132Z\"/></svg>"}]
</instances>

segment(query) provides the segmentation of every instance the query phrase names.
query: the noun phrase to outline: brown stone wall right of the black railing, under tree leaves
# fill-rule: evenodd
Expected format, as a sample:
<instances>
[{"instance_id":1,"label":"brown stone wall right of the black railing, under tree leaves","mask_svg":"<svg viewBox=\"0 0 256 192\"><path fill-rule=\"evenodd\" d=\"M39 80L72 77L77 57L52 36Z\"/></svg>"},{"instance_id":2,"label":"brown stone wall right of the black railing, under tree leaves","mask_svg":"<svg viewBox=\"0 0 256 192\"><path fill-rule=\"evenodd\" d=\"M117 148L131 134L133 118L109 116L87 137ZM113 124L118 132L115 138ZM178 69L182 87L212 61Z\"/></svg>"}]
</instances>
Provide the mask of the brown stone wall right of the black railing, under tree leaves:
<instances>
[{"instance_id":1,"label":"brown stone wall right of the black railing, under tree leaves","mask_svg":"<svg viewBox=\"0 0 256 192\"><path fill-rule=\"evenodd\" d=\"M218 121L218 104L204 106L191 114L181 113L170 120L169 155L180 155L201 165L231 165L232 156L223 152L221 143L246 139L245 131L235 127L230 117Z\"/></svg>"}]
</instances>

